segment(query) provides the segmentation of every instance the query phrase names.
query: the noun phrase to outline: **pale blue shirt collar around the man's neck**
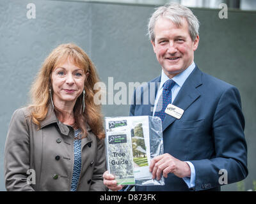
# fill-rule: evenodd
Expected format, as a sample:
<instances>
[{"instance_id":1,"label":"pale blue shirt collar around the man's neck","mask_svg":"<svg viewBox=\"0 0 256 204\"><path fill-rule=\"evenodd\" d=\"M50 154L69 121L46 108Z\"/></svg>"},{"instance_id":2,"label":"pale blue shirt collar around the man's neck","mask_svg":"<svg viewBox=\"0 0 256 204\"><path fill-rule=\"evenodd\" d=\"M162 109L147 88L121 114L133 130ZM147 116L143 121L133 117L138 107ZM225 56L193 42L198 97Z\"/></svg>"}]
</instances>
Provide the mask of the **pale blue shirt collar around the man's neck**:
<instances>
[{"instance_id":1,"label":"pale blue shirt collar around the man's neck","mask_svg":"<svg viewBox=\"0 0 256 204\"><path fill-rule=\"evenodd\" d=\"M182 87L182 85L184 84L184 82L186 81L186 79L189 77L189 75L191 74L191 72L195 69L195 62L193 61L192 64L186 68L184 71L182 71L181 73L179 73L179 75L176 75L175 77L172 78L172 80L179 85L179 87ZM164 83L169 80L170 78L166 76L166 74L164 73L163 69L162 69L162 73L161 73L161 84L160 87L162 88Z\"/></svg>"}]
</instances>

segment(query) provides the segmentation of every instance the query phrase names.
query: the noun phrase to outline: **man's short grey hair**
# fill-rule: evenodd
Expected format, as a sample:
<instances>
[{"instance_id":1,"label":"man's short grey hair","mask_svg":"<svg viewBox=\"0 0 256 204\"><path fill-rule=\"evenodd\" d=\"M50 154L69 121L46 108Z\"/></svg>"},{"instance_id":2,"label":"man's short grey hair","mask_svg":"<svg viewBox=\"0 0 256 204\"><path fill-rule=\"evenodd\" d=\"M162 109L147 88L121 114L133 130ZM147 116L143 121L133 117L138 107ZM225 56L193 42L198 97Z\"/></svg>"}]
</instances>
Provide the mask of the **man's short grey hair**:
<instances>
[{"instance_id":1,"label":"man's short grey hair","mask_svg":"<svg viewBox=\"0 0 256 204\"><path fill-rule=\"evenodd\" d=\"M172 20L177 27L182 25L182 20L185 18L188 22L189 35L193 41L196 40L196 36L199 34L199 21L189 8L178 3L165 4L156 8L148 22L148 36L150 40L155 41L154 27L159 17Z\"/></svg>"}]
</instances>

